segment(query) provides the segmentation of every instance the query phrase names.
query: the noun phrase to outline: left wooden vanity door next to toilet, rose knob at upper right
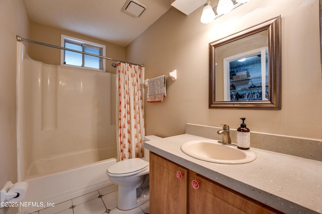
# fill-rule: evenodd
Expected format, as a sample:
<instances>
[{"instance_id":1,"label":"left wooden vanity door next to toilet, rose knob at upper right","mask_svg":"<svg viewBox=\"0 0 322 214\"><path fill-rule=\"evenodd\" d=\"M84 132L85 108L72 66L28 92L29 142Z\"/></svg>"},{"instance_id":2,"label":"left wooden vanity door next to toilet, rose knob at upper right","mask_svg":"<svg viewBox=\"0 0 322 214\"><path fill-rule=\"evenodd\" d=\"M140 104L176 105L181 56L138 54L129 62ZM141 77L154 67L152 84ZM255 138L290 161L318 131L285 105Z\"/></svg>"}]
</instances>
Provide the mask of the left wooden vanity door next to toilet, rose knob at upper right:
<instances>
[{"instance_id":1,"label":"left wooden vanity door next to toilet, rose knob at upper right","mask_svg":"<svg viewBox=\"0 0 322 214\"><path fill-rule=\"evenodd\" d=\"M149 162L150 213L186 214L188 170L152 152Z\"/></svg>"}]
</instances>

